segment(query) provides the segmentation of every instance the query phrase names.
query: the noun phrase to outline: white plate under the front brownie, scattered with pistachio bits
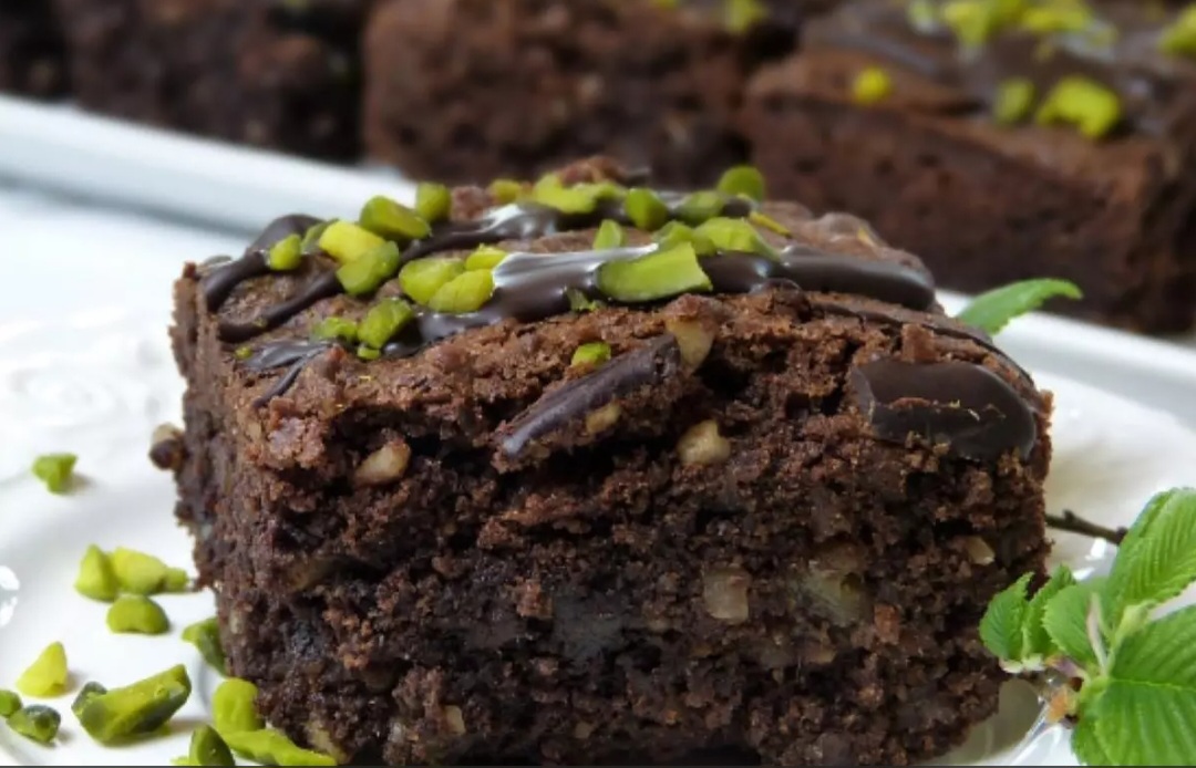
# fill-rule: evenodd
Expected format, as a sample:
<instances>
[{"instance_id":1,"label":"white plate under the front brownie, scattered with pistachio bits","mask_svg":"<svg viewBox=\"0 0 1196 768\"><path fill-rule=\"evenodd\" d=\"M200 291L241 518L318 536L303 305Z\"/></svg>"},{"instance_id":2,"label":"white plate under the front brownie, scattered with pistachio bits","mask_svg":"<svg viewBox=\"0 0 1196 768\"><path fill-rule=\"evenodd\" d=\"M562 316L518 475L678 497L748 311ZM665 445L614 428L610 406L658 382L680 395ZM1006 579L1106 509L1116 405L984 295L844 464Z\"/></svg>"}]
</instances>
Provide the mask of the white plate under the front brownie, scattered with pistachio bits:
<instances>
[{"instance_id":1,"label":"white plate under the front brownie, scattered with pistachio bits","mask_svg":"<svg viewBox=\"0 0 1196 768\"><path fill-rule=\"evenodd\" d=\"M188 733L207 718L216 680L178 631L212 614L209 595L163 597L171 635L141 638L109 634L105 607L72 589L90 543L189 563L189 542L172 520L171 480L146 459L151 430L178 413L181 383L163 327L161 317L122 313L0 326L7 331L0 332L0 686L61 640L77 684L122 684L185 663L196 693L170 736L120 750L97 747L71 715L71 696L56 699L49 704L65 713L60 741L43 748L0 726L0 763L163 764L185 754ZM1196 435L1173 417L1066 379L1039 380L1057 397L1052 510L1128 524L1154 492L1196 480ZM80 455L85 484L54 497L28 467L36 454L62 449ZM1107 554L1072 535L1056 547L1056 558L1081 572L1102 567ZM1057 730L1029 748L1019 744L1037 712L1032 698L1011 695L1005 705L950 762L1075 764Z\"/></svg>"}]
</instances>

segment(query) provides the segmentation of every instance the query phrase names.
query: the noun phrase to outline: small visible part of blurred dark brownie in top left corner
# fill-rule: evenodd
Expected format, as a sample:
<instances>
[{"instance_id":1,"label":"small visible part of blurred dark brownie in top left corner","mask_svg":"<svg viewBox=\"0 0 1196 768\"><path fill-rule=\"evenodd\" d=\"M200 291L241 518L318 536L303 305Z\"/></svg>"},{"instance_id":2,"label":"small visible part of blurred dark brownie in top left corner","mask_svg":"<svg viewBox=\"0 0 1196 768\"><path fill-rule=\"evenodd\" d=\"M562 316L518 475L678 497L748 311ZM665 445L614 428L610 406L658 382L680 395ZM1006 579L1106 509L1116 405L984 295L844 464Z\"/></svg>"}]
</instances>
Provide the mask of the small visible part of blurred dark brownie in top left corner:
<instances>
[{"instance_id":1,"label":"small visible part of blurred dark brownie in top left corner","mask_svg":"<svg viewBox=\"0 0 1196 768\"><path fill-rule=\"evenodd\" d=\"M0 4L0 93L53 98L67 90L62 33L43 0Z\"/></svg>"}]
</instances>

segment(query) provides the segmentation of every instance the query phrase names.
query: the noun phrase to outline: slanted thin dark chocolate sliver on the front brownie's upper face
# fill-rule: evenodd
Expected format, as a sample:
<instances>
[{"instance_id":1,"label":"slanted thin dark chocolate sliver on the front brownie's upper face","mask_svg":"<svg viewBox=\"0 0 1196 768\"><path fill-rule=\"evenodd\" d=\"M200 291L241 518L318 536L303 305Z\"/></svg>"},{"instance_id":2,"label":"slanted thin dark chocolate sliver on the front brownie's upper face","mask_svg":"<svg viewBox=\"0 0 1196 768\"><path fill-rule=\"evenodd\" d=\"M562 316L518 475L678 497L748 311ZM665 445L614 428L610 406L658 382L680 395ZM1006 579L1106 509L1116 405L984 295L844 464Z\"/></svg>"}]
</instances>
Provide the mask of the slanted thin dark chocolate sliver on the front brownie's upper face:
<instances>
[{"instance_id":1,"label":"slanted thin dark chocolate sliver on the front brownie's upper face","mask_svg":"<svg viewBox=\"0 0 1196 768\"><path fill-rule=\"evenodd\" d=\"M658 385L679 369L681 348L676 337L659 336L536 400L499 430L499 447L507 456L517 457L544 435L584 418L615 398Z\"/></svg>"}]
</instances>

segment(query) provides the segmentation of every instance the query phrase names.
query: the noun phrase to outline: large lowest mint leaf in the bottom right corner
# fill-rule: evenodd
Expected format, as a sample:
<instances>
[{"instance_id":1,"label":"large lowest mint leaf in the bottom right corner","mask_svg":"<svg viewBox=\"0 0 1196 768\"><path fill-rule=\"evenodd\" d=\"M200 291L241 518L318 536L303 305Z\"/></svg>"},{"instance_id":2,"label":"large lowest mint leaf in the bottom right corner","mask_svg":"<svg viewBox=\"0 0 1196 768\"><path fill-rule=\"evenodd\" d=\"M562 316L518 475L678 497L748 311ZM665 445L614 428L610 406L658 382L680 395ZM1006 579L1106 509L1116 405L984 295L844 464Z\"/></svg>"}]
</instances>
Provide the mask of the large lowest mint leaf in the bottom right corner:
<instances>
[{"instance_id":1,"label":"large lowest mint leaf in the bottom right corner","mask_svg":"<svg viewBox=\"0 0 1196 768\"><path fill-rule=\"evenodd\" d=\"M1125 638L1092 705L1113 766L1196 766L1196 607ZM1081 698L1082 700L1082 698ZM1084 720L1085 709L1079 712Z\"/></svg>"}]
</instances>

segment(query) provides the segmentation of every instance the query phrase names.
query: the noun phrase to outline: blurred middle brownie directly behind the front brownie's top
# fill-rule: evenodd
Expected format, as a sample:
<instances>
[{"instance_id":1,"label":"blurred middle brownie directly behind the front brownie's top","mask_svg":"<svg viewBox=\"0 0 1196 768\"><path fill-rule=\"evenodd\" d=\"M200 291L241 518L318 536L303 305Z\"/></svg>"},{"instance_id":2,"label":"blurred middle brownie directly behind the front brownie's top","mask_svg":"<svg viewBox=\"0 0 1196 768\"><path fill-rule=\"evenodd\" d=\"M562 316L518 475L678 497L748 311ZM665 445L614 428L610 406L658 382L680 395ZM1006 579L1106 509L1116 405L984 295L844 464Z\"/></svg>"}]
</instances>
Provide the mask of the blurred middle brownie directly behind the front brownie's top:
<instances>
[{"instance_id":1,"label":"blurred middle brownie directly behind the front brownie's top","mask_svg":"<svg viewBox=\"0 0 1196 768\"><path fill-rule=\"evenodd\" d=\"M366 149L462 183L605 153L710 184L744 160L745 80L793 49L803 5L390 0L365 43Z\"/></svg>"}]
</instances>

